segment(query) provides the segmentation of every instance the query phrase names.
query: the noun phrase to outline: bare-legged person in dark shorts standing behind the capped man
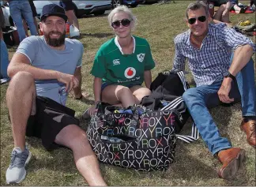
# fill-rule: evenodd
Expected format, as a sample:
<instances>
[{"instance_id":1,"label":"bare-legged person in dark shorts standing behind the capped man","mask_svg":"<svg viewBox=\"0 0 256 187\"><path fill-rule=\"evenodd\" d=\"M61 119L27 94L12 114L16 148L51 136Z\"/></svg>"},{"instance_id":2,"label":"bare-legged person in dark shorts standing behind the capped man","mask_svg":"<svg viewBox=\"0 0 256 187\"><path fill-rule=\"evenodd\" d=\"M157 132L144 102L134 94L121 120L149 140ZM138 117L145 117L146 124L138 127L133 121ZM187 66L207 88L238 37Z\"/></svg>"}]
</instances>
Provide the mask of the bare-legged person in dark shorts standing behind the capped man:
<instances>
[{"instance_id":1,"label":"bare-legged person in dark shorts standing behind the capped man","mask_svg":"<svg viewBox=\"0 0 256 187\"><path fill-rule=\"evenodd\" d=\"M65 9L69 24L73 24L73 26L75 26L79 30L79 23L75 13L73 12L74 7L72 0L60 0L59 5Z\"/></svg>"}]
</instances>

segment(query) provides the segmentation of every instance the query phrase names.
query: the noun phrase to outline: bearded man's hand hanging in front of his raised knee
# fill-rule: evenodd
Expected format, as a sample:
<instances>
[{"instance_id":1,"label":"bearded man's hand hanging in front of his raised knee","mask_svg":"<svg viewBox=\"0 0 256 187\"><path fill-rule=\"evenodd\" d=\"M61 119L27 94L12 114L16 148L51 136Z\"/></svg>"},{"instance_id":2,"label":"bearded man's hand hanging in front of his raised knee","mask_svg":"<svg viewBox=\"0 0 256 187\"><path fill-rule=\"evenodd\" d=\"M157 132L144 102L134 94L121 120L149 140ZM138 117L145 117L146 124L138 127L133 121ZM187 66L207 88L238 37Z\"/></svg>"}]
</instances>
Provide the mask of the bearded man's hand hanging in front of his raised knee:
<instances>
[{"instance_id":1,"label":"bearded man's hand hanging in front of his raised knee","mask_svg":"<svg viewBox=\"0 0 256 187\"><path fill-rule=\"evenodd\" d=\"M59 72L57 80L66 84L66 92L70 92L73 88L77 88L78 86L77 78L70 74Z\"/></svg>"}]
</instances>

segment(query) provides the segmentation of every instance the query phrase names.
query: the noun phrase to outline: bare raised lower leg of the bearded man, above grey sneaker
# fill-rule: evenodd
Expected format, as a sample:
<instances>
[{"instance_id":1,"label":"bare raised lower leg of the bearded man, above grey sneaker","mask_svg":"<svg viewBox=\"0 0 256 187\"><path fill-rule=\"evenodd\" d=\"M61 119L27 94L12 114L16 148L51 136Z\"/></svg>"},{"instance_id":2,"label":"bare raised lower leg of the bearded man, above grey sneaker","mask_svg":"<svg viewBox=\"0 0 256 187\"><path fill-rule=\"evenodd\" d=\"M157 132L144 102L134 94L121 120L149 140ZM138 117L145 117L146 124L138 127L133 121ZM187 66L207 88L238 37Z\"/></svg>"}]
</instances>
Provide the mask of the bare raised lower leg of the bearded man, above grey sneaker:
<instances>
[{"instance_id":1,"label":"bare raised lower leg of the bearded man, above grey sneaker","mask_svg":"<svg viewBox=\"0 0 256 187\"><path fill-rule=\"evenodd\" d=\"M32 111L35 114L36 109L36 88L30 73L19 72L13 76L6 92L6 102L13 129L14 147L24 150L28 117Z\"/></svg>"}]
</instances>

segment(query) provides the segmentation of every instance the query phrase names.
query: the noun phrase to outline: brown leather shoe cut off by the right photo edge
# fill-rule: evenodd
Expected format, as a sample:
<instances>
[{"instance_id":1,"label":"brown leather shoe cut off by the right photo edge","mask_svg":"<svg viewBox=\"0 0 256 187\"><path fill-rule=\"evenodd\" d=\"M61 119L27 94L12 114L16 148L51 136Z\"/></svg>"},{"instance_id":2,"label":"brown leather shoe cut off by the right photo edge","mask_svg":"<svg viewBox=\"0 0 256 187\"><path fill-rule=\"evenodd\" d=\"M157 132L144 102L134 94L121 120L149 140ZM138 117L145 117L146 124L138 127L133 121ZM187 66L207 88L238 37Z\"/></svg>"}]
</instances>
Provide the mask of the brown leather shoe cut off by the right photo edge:
<instances>
[{"instance_id":1,"label":"brown leather shoe cut off by the right photo edge","mask_svg":"<svg viewBox=\"0 0 256 187\"><path fill-rule=\"evenodd\" d=\"M248 144L256 148L256 120L243 118L240 128L247 134Z\"/></svg>"}]
</instances>

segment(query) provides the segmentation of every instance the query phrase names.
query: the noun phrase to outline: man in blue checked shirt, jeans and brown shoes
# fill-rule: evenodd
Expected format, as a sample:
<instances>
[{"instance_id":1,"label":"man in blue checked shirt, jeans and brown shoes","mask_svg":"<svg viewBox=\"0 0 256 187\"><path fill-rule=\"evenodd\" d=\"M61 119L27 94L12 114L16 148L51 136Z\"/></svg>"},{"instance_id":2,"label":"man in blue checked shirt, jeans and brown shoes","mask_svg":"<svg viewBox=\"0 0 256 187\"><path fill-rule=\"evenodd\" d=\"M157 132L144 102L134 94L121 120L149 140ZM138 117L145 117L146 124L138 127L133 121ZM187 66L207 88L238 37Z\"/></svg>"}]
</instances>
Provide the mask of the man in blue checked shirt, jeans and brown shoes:
<instances>
[{"instance_id":1,"label":"man in blue checked shirt, jeans and brown shoes","mask_svg":"<svg viewBox=\"0 0 256 187\"><path fill-rule=\"evenodd\" d=\"M173 69L185 69L188 59L197 87L188 89L183 99L209 151L223 164L218 170L219 176L233 178L243 163L245 151L232 148L227 138L220 137L208 108L241 99L241 129L247 133L248 143L255 147L255 83L251 56L256 48L250 39L225 24L209 24L204 2L190 3L186 18L190 30L175 38Z\"/></svg>"}]
</instances>

